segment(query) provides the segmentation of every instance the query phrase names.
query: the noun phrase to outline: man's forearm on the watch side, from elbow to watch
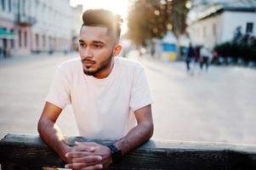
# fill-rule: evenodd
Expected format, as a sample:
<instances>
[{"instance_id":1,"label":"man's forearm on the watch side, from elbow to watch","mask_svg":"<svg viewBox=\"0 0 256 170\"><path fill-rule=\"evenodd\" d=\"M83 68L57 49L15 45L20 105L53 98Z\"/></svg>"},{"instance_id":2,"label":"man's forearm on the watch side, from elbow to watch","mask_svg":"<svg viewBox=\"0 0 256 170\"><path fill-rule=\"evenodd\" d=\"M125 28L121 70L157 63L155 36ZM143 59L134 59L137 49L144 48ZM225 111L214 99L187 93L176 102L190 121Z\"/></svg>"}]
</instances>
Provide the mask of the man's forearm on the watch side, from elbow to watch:
<instances>
[{"instance_id":1,"label":"man's forearm on the watch side, from elbow to watch","mask_svg":"<svg viewBox=\"0 0 256 170\"><path fill-rule=\"evenodd\" d=\"M131 129L126 136L118 140L115 145L122 150L122 155L126 155L150 139L153 131L154 127L151 122L141 122Z\"/></svg>"}]
</instances>

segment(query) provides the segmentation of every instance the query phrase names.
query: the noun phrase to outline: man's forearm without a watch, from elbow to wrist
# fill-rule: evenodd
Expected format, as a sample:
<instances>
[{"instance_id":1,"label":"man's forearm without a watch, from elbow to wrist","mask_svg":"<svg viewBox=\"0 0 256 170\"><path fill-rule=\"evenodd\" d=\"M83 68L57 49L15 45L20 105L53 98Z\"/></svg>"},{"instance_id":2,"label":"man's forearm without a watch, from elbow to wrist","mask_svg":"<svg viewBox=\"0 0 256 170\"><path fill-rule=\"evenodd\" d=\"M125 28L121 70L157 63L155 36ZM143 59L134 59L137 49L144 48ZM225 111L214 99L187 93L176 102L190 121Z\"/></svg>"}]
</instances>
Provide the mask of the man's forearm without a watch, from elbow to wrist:
<instances>
[{"instance_id":1,"label":"man's forearm without a watch, from elbow to wrist","mask_svg":"<svg viewBox=\"0 0 256 170\"><path fill-rule=\"evenodd\" d=\"M60 128L49 120L40 120L37 128L43 141L57 152L63 161L67 161L65 153L70 151L70 147L65 143Z\"/></svg>"}]
</instances>

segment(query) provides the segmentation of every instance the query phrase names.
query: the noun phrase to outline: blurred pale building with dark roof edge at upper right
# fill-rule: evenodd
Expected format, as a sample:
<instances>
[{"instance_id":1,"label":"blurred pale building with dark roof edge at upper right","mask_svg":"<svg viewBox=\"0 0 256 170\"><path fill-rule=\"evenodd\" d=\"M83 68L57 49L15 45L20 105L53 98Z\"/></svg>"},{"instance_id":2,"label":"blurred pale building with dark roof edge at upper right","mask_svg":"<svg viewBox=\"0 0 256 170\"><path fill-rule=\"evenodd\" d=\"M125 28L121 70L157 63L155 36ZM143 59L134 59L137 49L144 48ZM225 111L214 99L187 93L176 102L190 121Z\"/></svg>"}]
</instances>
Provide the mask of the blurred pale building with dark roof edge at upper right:
<instances>
[{"instance_id":1,"label":"blurred pale building with dark roof edge at upper right","mask_svg":"<svg viewBox=\"0 0 256 170\"><path fill-rule=\"evenodd\" d=\"M237 27L242 34L256 36L256 2L214 4L196 14L187 31L194 45L213 48L216 44L230 41Z\"/></svg>"}]
</instances>

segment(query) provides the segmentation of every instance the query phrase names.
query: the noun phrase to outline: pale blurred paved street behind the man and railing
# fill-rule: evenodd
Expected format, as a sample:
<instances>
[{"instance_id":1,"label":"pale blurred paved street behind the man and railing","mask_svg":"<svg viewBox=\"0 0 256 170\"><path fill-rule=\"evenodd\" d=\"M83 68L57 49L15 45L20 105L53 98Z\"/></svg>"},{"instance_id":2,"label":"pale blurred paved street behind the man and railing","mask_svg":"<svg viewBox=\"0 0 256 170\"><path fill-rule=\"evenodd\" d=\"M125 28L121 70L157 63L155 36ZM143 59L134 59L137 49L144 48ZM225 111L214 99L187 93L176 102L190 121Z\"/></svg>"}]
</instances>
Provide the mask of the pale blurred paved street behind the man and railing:
<instances>
[{"instance_id":1,"label":"pale blurred paved street behind the man and railing","mask_svg":"<svg viewBox=\"0 0 256 170\"><path fill-rule=\"evenodd\" d=\"M135 53L132 55L136 55ZM0 138L6 133L37 134L37 120L57 65L77 54L0 60ZM153 139L256 142L256 70L211 66L185 72L182 62L139 59L145 65L155 103ZM65 135L76 136L71 106L58 121Z\"/></svg>"}]
</instances>

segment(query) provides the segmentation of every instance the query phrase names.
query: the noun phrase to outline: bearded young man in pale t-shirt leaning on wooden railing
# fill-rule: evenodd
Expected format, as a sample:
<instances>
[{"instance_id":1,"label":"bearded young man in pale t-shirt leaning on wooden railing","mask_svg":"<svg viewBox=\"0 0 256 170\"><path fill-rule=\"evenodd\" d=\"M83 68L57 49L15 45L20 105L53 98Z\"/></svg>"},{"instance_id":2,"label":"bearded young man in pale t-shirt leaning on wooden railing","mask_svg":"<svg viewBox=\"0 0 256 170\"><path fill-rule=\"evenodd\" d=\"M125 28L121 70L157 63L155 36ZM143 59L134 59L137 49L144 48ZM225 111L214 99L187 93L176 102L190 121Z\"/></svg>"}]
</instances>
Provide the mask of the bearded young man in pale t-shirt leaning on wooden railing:
<instances>
[{"instance_id":1,"label":"bearded young man in pale t-shirt leaning on wooden railing","mask_svg":"<svg viewBox=\"0 0 256 170\"><path fill-rule=\"evenodd\" d=\"M82 14L81 59L60 65L46 99L38 132L71 169L102 169L151 138L152 98L138 62L118 57L122 46L120 18L104 9ZM71 104L79 133L87 138L115 139L104 146L76 143L70 147L55 124Z\"/></svg>"}]
</instances>

